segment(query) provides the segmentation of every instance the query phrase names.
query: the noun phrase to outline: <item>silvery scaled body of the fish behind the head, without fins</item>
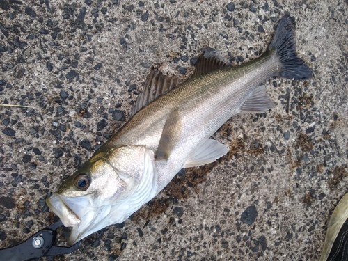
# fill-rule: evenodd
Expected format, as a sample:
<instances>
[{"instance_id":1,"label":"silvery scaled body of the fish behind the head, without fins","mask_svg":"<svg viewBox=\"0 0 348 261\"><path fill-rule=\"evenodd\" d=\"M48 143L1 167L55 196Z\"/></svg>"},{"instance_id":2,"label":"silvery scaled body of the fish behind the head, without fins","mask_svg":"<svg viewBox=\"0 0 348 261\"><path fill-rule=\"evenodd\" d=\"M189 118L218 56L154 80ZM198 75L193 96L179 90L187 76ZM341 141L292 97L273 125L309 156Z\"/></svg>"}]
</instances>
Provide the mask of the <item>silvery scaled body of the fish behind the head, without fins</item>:
<instances>
[{"instance_id":1,"label":"silvery scaled body of the fish behind the head, without fins","mask_svg":"<svg viewBox=\"0 0 348 261\"><path fill-rule=\"evenodd\" d=\"M177 108L182 120L182 129L177 131L182 139L166 164L157 163L161 165L157 168L161 169L159 189L163 189L180 171L191 150L239 113L253 90L279 68L277 56L269 52L237 68L195 77L141 109L101 149L145 145L156 152L168 113Z\"/></svg>"}]
</instances>

